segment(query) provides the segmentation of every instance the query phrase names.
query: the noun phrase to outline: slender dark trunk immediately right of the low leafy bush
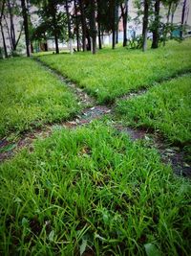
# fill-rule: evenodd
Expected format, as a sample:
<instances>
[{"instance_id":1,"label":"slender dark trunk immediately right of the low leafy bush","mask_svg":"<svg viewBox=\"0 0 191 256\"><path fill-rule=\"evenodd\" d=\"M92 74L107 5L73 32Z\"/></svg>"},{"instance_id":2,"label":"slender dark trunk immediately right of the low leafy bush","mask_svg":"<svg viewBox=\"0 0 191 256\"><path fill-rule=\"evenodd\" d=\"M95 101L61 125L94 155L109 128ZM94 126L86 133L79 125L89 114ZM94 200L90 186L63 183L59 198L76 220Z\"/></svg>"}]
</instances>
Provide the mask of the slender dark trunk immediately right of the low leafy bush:
<instances>
[{"instance_id":1,"label":"slender dark trunk immediately right of the low leafy bush","mask_svg":"<svg viewBox=\"0 0 191 256\"><path fill-rule=\"evenodd\" d=\"M149 3L144 0L144 14L142 26L142 51L145 52L147 48L147 32L148 32L148 18L149 18Z\"/></svg>"}]
</instances>

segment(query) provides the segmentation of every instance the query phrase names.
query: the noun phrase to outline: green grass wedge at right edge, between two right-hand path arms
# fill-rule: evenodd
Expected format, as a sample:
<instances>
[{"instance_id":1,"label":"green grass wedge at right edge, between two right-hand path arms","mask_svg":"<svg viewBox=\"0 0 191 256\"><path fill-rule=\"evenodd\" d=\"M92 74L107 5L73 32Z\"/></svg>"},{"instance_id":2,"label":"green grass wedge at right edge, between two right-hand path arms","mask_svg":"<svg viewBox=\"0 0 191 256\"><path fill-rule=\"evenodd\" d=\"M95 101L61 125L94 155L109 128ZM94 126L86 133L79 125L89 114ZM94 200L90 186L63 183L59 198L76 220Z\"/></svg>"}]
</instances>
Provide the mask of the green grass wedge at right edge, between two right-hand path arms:
<instances>
[{"instance_id":1,"label":"green grass wedge at right edge, between two right-hand path arms","mask_svg":"<svg viewBox=\"0 0 191 256\"><path fill-rule=\"evenodd\" d=\"M119 101L117 119L128 126L154 128L170 142L191 143L191 76L163 82L137 98Z\"/></svg>"}]
</instances>

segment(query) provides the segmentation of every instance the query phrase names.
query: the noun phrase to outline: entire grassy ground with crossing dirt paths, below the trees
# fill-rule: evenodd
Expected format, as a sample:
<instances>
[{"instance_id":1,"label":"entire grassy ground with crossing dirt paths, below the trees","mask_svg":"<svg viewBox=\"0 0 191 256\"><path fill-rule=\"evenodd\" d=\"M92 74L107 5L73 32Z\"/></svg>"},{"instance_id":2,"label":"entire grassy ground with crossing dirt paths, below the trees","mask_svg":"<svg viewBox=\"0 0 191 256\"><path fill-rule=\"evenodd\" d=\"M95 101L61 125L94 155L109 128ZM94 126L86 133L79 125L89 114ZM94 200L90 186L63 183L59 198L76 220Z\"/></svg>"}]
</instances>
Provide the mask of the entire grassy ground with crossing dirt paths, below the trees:
<instances>
[{"instance_id":1,"label":"entire grassy ground with crossing dirt paths, below the trees","mask_svg":"<svg viewBox=\"0 0 191 256\"><path fill-rule=\"evenodd\" d=\"M134 62L142 58L149 64L145 76L140 80L138 71L128 71L117 76L116 87L107 83L109 69L99 76L98 62L117 61L122 51L124 58L124 50L117 49L116 56L105 50L96 60L88 54L9 60L15 69L19 61L30 63L35 80L31 76L28 83L35 87L18 89L27 75L11 91L18 71L10 78L2 73L4 95L17 95L14 109L20 99L23 103L20 112L7 107L2 114L7 118L0 130L3 253L190 254L190 41L179 51L174 44L163 55L161 49L134 53ZM179 65L175 54L184 59ZM164 61L168 57L166 68L161 55ZM157 64L150 62L156 57L161 65L154 71ZM76 62L81 66L74 70ZM84 81L90 67L92 84ZM143 74L145 67L138 68ZM6 101L4 108L11 104ZM34 110L23 116L28 105ZM36 109L38 116L32 115Z\"/></svg>"}]
</instances>

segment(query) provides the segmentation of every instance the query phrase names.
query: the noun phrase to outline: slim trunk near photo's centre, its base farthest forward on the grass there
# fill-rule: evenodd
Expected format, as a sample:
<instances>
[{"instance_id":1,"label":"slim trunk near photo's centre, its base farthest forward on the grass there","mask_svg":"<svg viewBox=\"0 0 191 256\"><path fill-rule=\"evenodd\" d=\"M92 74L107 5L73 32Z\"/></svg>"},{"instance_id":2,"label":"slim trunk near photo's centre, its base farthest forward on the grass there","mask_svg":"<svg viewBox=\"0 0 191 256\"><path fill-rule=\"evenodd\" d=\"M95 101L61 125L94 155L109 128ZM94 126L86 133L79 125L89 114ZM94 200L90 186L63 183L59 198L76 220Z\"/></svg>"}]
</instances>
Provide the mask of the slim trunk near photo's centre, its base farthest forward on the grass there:
<instances>
[{"instance_id":1,"label":"slim trunk near photo's centre, its base farthest forward on the grass there","mask_svg":"<svg viewBox=\"0 0 191 256\"><path fill-rule=\"evenodd\" d=\"M92 37L92 53L96 54L96 3L95 0L90 2L90 35Z\"/></svg>"}]
</instances>

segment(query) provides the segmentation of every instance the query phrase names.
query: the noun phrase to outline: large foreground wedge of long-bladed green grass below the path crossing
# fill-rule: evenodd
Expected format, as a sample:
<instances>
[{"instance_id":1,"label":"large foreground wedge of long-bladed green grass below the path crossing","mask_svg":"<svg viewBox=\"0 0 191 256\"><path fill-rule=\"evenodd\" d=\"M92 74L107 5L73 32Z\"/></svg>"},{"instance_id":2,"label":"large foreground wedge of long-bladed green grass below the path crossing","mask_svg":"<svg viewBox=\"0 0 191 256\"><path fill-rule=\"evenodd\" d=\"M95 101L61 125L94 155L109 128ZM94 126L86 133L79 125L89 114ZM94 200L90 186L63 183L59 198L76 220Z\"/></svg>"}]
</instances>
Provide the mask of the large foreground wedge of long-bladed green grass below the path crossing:
<instances>
[{"instance_id":1,"label":"large foreground wedge of long-bladed green grass below the path crossing","mask_svg":"<svg viewBox=\"0 0 191 256\"><path fill-rule=\"evenodd\" d=\"M1 254L190 255L191 184L143 145L94 123L4 163Z\"/></svg>"}]
</instances>

